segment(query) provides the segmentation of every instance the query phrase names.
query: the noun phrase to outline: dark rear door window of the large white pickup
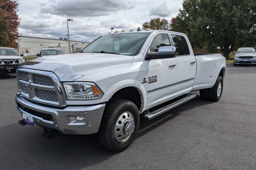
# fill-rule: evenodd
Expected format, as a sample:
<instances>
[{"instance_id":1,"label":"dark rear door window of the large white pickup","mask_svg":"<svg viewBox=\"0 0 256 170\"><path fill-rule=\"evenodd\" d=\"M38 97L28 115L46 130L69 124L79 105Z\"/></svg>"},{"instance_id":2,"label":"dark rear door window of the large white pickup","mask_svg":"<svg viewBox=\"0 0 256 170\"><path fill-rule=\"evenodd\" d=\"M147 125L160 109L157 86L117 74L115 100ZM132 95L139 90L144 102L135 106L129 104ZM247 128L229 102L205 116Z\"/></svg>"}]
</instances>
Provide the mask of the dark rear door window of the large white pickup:
<instances>
[{"instance_id":1,"label":"dark rear door window of the large white pickup","mask_svg":"<svg viewBox=\"0 0 256 170\"><path fill-rule=\"evenodd\" d=\"M174 42L174 46L177 49L177 55L188 55L189 48L187 45L187 41L183 36L180 35L172 35L172 39Z\"/></svg>"}]
</instances>

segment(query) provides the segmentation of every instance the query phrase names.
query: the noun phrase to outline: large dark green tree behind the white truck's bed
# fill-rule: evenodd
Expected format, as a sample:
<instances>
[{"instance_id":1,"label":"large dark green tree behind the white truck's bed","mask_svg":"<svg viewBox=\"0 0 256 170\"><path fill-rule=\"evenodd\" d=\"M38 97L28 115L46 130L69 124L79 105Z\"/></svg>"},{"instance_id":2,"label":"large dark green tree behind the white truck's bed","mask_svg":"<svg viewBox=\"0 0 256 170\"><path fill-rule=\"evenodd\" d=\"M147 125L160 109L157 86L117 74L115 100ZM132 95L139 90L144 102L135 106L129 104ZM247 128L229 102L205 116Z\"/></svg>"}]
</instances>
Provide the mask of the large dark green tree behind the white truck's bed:
<instances>
[{"instance_id":1,"label":"large dark green tree behind the white truck's bed","mask_svg":"<svg viewBox=\"0 0 256 170\"><path fill-rule=\"evenodd\" d=\"M239 47L256 45L256 0L184 0L177 15L177 27L188 33L193 48L225 57ZM229 49L229 46L231 48Z\"/></svg>"}]
</instances>

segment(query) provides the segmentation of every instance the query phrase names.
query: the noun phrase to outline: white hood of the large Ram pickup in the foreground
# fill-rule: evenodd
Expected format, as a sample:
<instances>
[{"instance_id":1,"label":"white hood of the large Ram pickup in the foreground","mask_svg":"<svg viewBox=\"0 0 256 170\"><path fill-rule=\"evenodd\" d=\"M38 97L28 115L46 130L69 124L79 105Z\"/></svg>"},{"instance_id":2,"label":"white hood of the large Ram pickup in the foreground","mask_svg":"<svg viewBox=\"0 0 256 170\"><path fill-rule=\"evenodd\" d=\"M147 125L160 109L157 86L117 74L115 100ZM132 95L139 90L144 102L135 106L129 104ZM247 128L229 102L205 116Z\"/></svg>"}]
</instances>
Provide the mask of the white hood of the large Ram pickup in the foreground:
<instances>
[{"instance_id":1,"label":"white hood of the large Ram pickup in the foreground","mask_svg":"<svg viewBox=\"0 0 256 170\"><path fill-rule=\"evenodd\" d=\"M25 62L24 64L20 64L19 68L52 71L56 74L60 74L60 70L68 66L71 67L72 71L76 75L79 74L80 76L83 76L99 71L129 66L131 65L132 61L133 57L127 55L76 53L36 58L29 62Z\"/></svg>"}]
</instances>

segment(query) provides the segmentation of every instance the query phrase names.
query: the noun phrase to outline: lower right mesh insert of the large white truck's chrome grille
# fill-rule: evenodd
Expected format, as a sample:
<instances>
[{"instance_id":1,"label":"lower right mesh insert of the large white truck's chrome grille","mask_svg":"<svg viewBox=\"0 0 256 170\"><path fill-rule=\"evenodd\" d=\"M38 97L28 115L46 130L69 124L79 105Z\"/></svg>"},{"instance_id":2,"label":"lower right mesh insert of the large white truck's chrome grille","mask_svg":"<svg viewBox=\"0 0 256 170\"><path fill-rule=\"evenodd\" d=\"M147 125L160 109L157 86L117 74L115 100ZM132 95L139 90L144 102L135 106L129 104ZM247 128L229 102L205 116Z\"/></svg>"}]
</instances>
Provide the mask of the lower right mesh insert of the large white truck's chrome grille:
<instances>
[{"instance_id":1,"label":"lower right mesh insert of the large white truck's chrome grille","mask_svg":"<svg viewBox=\"0 0 256 170\"><path fill-rule=\"evenodd\" d=\"M54 102L59 102L58 95L56 91L49 91L49 90L41 90L41 89L34 89L35 97L43 100L49 100Z\"/></svg>"}]
</instances>

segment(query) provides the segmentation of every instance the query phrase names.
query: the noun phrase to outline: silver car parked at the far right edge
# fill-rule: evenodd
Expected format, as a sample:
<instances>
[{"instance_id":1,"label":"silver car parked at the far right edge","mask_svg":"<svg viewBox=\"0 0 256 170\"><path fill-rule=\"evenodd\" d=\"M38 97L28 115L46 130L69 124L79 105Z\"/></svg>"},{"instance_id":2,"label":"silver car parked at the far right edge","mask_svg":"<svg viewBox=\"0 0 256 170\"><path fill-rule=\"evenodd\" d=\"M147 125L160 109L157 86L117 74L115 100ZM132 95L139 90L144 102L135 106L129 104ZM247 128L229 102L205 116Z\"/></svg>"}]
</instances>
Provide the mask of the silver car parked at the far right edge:
<instances>
[{"instance_id":1,"label":"silver car parked at the far right edge","mask_svg":"<svg viewBox=\"0 0 256 170\"><path fill-rule=\"evenodd\" d=\"M234 57L234 66L238 64L253 64L253 66L256 66L255 49L251 47L239 48Z\"/></svg>"}]
</instances>

